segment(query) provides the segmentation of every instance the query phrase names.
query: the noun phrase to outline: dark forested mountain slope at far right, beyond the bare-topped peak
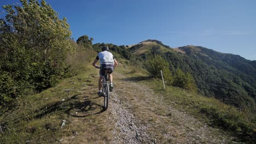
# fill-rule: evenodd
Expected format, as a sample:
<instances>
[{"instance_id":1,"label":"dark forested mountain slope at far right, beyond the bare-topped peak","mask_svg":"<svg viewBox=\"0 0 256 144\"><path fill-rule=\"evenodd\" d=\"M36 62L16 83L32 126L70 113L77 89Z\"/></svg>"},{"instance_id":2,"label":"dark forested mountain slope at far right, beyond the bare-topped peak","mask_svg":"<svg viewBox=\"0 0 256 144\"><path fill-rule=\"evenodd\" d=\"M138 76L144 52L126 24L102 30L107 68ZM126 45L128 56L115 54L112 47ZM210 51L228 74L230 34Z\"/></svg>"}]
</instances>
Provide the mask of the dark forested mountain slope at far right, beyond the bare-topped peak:
<instances>
[{"instance_id":1,"label":"dark forested mountain slope at far right, beyond the bare-topped peak","mask_svg":"<svg viewBox=\"0 0 256 144\"><path fill-rule=\"evenodd\" d=\"M193 74L203 95L214 96L241 109L256 109L256 95L252 94L256 93L256 67L252 61L201 46L184 46L179 49L187 53L181 57L185 60L182 62L183 70L187 69ZM168 59L173 61L173 57Z\"/></svg>"}]
</instances>

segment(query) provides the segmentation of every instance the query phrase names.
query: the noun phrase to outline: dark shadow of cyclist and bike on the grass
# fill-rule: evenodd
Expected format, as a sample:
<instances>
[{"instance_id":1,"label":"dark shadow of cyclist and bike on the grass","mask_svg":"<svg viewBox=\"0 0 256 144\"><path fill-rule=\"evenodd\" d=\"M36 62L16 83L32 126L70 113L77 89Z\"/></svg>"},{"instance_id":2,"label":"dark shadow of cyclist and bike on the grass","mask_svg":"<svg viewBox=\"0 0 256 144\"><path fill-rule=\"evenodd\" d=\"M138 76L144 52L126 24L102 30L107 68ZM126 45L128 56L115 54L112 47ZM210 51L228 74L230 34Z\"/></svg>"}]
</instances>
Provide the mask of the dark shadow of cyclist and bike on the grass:
<instances>
[{"instance_id":1,"label":"dark shadow of cyclist and bike on the grass","mask_svg":"<svg viewBox=\"0 0 256 144\"><path fill-rule=\"evenodd\" d=\"M87 117L89 115L98 115L105 111L104 106L92 101L93 99L97 99L100 97L90 99L88 98L89 96L78 98L77 94L73 95L71 98L68 98L65 101L57 101L54 104L45 105L39 110L35 111L35 113L38 114L34 116L34 118L42 118L54 112L63 112L72 117Z\"/></svg>"}]
</instances>

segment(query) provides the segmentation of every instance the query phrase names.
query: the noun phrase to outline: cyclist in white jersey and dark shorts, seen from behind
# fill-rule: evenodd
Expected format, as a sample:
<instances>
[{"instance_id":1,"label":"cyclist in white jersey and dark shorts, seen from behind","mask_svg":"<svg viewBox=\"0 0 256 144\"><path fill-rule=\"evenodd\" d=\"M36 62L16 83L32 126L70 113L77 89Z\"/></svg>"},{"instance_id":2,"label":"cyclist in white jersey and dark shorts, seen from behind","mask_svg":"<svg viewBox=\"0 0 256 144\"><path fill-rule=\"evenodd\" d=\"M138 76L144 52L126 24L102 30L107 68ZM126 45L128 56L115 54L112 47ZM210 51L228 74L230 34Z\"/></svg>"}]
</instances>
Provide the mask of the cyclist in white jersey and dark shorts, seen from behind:
<instances>
[{"instance_id":1,"label":"cyclist in white jersey and dark shorts, seen from behind","mask_svg":"<svg viewBox=\"0 0 256 144\"><path fill-rule=\"evenodd\" d=\"M101 66L99 67L96 65L96 63L100 60ZM109 72L109 91L111 92L113 90L113 77L112 72L114 71L114 68L117 67L118 62L115 60L114 56L111 52L109 52L109 48L107 46L102 47L102 52L98 53L96 59L92 63L95 68L100 68L100 79L98 80L98 95L101 95L101 88L102 88L102 79L105 74L105 70L110 70Z\"/></svg>"}]
</instances>

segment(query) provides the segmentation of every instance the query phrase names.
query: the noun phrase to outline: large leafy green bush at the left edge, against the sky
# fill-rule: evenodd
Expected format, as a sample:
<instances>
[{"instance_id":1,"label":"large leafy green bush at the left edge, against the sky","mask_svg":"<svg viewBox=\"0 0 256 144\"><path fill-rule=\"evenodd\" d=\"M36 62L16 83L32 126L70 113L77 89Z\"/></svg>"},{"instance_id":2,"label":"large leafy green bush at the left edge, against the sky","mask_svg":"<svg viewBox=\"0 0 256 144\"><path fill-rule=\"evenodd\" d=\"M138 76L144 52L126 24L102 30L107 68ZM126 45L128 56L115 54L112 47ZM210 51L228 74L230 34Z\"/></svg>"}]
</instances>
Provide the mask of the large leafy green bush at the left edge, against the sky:
<instances>
[{"instance_id":1,"label":"large leafy green bush at the left edge, against the sky","mask_svg":"<svg viewBox=\"0 0 256 144\"><path fill-rule=\"evenodd\" d=\"M74 51L69 25L45 1L4 5L0 19L0 103L27 89L42 91L66 77L66 56ZM14 9L13 9L14 8Z\"/></svg>"}]
</instances>

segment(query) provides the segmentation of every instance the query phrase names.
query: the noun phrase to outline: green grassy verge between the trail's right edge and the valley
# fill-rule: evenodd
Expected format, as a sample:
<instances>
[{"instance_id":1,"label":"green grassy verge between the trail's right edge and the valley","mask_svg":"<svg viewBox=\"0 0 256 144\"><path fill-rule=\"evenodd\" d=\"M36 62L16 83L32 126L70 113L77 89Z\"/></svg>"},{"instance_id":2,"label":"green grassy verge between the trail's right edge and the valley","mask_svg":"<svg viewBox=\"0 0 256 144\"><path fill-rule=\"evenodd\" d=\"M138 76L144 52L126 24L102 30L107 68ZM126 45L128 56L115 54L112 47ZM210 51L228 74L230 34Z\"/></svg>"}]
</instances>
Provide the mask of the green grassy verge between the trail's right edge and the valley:
<instances>
[{"instance_id":1,"label":"green grassy verge between the trail's right edge and the valley","mask_svg":"<svg viewBox=\"0 0 256 144\"><path fill-rule=\"evenodd\" d=\"M164 95L164 101L177 109L189 112L212 127L219 127L238 137L241 141L252 142L256 137L256 124L248 113L240 111L234 106L221 103L214 98L207 98L199 94L191 94L184 89L167 86L166 91L161 81L147 80L147 85L154 92Z\"/></svg>"}]
</instances>

